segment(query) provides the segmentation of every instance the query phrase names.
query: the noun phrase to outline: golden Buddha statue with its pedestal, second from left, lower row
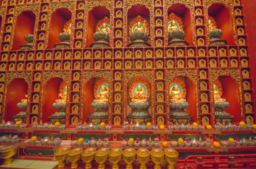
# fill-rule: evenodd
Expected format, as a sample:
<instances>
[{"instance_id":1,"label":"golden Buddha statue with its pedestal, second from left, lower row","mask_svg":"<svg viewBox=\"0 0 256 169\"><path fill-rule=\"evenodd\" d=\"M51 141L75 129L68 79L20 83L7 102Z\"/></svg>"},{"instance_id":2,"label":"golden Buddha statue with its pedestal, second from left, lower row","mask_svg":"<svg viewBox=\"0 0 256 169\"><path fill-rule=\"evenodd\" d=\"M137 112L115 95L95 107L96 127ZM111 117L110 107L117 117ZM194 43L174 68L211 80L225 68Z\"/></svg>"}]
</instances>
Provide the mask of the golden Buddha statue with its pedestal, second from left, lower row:
<instances>
[{"instance_id":1,"label":"golden Buddha statue with its pedestal, second from left, lower row","mask_svg":"<svg viewBox=\"0 0 256 169\"><path fill-rule=\"evenodd\" d=\"M66 123L66 99L67 99L67 83L63 81L61 83L60 89L59 89L59 99L55 100L55 103L52 104L53 108L58 108L58 111L56 111L53 115L49 117L50 123L56 123L59 122L61 124Z\"/></svg>"}]
</instances>

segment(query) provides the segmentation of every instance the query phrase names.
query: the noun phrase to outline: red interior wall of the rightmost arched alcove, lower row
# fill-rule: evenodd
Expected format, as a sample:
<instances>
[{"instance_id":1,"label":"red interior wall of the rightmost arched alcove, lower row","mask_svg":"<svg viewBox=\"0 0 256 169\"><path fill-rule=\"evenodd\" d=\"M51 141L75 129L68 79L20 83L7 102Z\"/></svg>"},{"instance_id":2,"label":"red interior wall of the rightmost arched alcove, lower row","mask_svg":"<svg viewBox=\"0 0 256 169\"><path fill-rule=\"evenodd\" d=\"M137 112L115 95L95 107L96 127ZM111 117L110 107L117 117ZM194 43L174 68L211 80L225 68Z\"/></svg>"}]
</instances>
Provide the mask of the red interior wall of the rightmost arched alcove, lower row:
<instances>
[{"instance_id":1,"label":"red interior wall of the rightmost arched alcove, lower row","mask_svg":"<svg viewBox=\"0 0 256 169\"><path fill-rule=\"evenodd\" d=\"M240 122L242 118L240 111L238 83L228 75L219 76L219 82L221 82L223 89L221 98L226 99L226 101L229 103L229 107L224 108L224 111L230 115L233 115L233 120L235 122Z\"/></svg>"}]
</instances>

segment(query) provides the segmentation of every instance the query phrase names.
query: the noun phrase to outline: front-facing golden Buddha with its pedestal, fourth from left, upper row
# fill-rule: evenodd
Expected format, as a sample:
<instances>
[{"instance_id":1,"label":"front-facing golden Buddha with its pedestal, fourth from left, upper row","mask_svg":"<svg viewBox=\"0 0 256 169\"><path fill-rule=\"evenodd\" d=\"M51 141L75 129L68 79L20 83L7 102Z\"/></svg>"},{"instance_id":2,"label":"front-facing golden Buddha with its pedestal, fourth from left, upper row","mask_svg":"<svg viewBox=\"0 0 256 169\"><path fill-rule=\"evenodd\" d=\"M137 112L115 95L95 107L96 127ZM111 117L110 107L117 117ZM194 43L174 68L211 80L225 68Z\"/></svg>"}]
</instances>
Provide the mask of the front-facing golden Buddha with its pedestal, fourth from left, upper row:
<instances>
[{"instance_id":1,"label":"front-facing golden Buddha with its pedestal, fourth from left, upper row","mask_svg":"<svg viewBox=\"0 0 256 169\"><path fill-rule=\"evenodd\" d=\"M128 44L128 46L150 46L150 44L147 44L149 32L150 26L147 23L147 20L138 15L138 17L133 19L129 25L130 44Z\"/></svg>"}]
</instances>

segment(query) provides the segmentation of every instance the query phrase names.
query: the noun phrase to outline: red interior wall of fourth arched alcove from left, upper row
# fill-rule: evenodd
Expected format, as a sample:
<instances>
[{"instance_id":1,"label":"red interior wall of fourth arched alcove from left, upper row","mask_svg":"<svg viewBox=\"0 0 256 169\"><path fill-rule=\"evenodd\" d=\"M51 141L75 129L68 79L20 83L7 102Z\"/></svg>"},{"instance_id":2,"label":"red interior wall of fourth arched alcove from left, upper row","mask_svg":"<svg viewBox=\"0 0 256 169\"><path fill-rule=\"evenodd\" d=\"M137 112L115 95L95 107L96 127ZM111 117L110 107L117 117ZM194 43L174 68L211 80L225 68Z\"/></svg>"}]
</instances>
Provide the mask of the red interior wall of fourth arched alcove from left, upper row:
<instances>
[{"instance_id":1,"label":"red interior wall of fourth arched alcove from left, upper row","mask_svg":"<svg viewBox=\"0 0 256 169\"><path fill-rule=\"evenodd\" d=\"M142 18L147 20L147 23L149 24L149 27L150 27L150 9L147 8L147 6L145 6L144 4L134 4L134 5L130 6L130 8L128 8L128 11L127 11L127 22L128 22L127 23L127 32L128 32L127 35L128 36L129 36L130 22L132 22L133 19L138 17L138 15L140 15Z\"/></svg>"}]
</instances>

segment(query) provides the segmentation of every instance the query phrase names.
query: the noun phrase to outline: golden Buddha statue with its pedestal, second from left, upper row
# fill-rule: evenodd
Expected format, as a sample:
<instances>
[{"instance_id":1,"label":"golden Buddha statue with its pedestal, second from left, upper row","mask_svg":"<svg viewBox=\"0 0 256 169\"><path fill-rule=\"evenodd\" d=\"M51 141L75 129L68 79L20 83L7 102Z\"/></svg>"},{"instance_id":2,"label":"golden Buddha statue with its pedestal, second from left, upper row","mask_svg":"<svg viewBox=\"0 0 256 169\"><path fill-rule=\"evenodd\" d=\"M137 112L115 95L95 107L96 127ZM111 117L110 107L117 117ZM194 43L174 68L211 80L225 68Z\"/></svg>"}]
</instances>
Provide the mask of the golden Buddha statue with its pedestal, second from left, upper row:
<instances>
[{"instance_id":1,"label":"golden Buddha statue with its pedestal, second from left, upper row","mask_svg":"<svg viewBox=\"0 0 256 169\"><path fill-rule=\"evenodd\" d=\"M66 49L70 48L70 41L71 41L71 20L65 23L63 27L63 32L59 34L59 39L61 43L54 44L56 49Z\"/></svg>"}]
</instances>

